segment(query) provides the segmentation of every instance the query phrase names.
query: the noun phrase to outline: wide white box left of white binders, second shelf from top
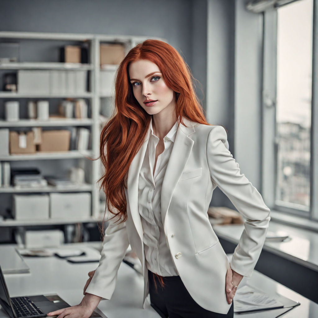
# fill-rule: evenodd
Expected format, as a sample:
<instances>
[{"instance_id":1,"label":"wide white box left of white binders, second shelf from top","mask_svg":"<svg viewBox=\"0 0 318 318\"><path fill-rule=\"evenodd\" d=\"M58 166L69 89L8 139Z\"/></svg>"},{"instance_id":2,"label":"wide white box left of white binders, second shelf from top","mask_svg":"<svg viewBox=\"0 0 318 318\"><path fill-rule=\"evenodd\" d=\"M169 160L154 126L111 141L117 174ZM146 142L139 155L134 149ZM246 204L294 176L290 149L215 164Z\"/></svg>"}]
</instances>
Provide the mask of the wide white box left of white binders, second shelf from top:
<instances>
[{"instance_id":1,"label":"wide white box left of white binders, second shelf from top","mask_svg":"<svg viewBox=\"0 0 318 318\"><path fill-rule=\"evenodd\" d=\"M17 82L18 93L50 93L50 71L18 70Z\"/></svg>"}]
</instances>

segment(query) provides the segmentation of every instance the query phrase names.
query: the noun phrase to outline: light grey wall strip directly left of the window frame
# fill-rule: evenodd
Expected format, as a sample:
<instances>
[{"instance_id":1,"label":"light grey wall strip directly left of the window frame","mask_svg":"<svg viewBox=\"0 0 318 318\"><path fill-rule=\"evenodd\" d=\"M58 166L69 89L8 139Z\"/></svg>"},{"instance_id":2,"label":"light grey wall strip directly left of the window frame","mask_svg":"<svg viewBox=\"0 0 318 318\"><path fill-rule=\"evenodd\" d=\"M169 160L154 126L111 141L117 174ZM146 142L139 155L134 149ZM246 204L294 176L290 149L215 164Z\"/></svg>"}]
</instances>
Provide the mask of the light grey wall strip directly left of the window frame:
<instances>
[{"instance_id":1,"label":"light grey wall strip directly left of the window frame","mask_svg":"<svg viewBox=\"0 0 318 318\"><path fill-rule=\"evenodd\" d=\"M263 15L235 5L234 153L251 183L261 187Z\"/></svg>"}]
</instances>

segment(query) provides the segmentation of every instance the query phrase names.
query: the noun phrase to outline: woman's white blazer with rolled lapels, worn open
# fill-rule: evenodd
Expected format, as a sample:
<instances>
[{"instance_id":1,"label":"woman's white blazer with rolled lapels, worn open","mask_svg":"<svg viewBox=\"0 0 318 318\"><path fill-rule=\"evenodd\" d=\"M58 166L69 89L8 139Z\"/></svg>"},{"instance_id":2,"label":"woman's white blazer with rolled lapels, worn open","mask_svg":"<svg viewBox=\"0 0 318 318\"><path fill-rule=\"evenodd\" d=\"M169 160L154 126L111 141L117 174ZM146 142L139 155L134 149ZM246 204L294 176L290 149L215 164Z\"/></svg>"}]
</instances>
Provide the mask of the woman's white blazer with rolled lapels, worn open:
<instances>
[{"instance_id":1,"label":"woman's white blazer with rolled lapels, worn open","mask_svg":"<svg viewBox=\"0 0 318 318\"><path fill-rule=\"evenodd\" d=\"M270 210L241 174L228 150L225 129L186 119L184 124L178 127L162 183L162 224L176 269L192 298L207 310L226 314L231 307L225 294L230 263L207 215L213 190L218 186L246 218L231 260L232 269L241 275L252 275L265 241ZM114 292L117 271L129 244L143 267L143 304L149 294L138 211L138 178L148 138L129 167L127 221L108 225L99 266L86 289L103 299L110 299Z\"/></svg>"}]
</instances>

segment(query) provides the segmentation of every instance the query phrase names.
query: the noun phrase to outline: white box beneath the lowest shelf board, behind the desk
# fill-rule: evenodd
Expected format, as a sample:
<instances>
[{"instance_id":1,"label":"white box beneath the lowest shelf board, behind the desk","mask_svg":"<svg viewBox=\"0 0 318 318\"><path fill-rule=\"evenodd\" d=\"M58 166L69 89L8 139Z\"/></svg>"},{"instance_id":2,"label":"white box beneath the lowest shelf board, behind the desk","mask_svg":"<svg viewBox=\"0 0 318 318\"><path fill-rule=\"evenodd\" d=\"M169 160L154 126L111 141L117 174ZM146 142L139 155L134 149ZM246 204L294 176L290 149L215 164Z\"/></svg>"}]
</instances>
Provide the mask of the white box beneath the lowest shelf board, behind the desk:
<instances>
[{"instance_id":1,"label":"white box beneath the lowest shelf board, behind the desk","mask_svg":"<svg viewBox=\"0 0 318 318\"><path fill-rule=\"evenodd\" d=\"M56 247L64 243L64 233L60 230L26 231L26 248Z\"/></svg>"}]
</instances>

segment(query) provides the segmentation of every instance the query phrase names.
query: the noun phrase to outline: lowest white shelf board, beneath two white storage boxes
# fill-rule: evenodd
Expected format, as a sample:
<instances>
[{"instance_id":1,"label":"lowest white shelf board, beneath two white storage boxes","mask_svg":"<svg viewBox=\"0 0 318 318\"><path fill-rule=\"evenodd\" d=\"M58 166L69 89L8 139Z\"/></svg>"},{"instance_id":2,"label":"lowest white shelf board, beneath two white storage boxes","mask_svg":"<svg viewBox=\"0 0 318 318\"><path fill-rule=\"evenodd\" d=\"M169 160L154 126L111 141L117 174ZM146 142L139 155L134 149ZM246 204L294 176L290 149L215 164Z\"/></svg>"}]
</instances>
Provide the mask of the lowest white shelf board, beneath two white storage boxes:
<instances>
[{"instance_id":1,"label":"lowest white shelf board, beneath two white storage boxes","mask_svg":"<svg viewBox=\"0 0 318 318\"><path fill-rule=\"evenodd\" d=\"M100 222L99 219L89 218L76 218L76 219L46 219L46 220L13 220L7 219L0 221L0 227L3 226L31 226L31 225L54 225L54 224L74 224L74 223L89 223Z\"/></svg>"}]
</instances>

